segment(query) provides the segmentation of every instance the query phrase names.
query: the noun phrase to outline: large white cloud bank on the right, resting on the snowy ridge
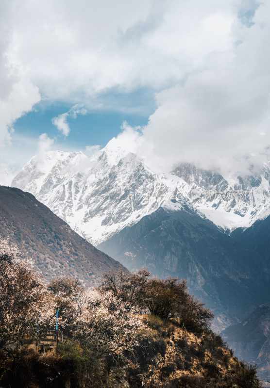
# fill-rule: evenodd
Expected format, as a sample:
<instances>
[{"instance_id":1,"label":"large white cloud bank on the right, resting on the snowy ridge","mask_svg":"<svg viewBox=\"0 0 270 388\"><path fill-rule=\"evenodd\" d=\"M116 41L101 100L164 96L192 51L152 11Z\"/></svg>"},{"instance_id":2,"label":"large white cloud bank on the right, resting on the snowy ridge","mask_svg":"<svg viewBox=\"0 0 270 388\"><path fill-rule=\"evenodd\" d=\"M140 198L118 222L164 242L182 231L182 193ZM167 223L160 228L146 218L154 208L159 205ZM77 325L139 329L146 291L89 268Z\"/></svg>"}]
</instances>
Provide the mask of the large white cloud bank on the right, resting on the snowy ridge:
<instances>
[{"instance_id":1,"label":"large white cloud bank on the right, resting on the snowy ridge","mask_svg":"<svg viewBox=\"0 0 270 388\"><path fill-rule=\"evenodd\" d=\"M269 160L270 4L253 25L234 22L231 48L212 52L185 81L156 95L149 124L136 130L137 152L158 169L195 162L224 174L248 173ZM233 44L237 42L237 44ZM125 138L124 131L118 141Z\"/></svg>"}]
</instances>

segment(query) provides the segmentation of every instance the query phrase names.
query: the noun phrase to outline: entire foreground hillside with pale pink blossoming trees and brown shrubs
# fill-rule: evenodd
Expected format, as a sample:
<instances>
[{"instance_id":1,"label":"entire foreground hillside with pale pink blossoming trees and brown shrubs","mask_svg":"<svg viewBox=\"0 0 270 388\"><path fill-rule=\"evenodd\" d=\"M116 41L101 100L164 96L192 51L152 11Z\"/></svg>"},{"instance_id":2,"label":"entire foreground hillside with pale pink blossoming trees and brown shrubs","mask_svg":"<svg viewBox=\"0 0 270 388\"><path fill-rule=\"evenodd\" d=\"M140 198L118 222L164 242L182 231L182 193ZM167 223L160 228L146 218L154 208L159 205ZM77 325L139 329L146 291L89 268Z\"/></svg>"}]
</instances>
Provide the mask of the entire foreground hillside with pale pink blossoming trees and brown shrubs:
<instances>
[{"instance_id":1,"label":"entire foreground hillside with pale pink blossoming trees and brown shrubs","mask_svg":"<svg viewBox=\"0 0 270 388\"><path fill-rule=\"evenodd\" d=\"M0 264L2 388L261 387L185 281L142 270L104 275L95 290L45 284L5 239Z\"/></svg>"}]
</instances>

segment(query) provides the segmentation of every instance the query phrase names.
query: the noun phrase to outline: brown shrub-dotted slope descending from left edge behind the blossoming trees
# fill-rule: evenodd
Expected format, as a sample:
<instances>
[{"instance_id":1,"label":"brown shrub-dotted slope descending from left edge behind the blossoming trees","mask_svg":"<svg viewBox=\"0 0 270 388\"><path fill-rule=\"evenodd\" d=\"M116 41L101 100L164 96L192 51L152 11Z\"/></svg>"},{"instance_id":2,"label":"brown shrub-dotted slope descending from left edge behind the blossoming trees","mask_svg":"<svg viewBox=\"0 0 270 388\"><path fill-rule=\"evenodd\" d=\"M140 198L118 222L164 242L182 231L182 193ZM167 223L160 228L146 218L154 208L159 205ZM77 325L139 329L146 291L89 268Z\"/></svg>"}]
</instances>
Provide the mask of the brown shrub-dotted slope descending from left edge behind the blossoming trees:
<instances>
[{"instance_id":1,"label":"brown shrub-dotted slope descending from left edge behind the blossoming trees","mask_svg":"<svg viewBox=\"0 0 270 388\"><path fill-rule=\"evenodd\" d=\"M97 284L102 273L123 268L75 233L34 195L0 186L0 236L17 243L46 279L75 276Z\"/></svg>"}]
</instances>

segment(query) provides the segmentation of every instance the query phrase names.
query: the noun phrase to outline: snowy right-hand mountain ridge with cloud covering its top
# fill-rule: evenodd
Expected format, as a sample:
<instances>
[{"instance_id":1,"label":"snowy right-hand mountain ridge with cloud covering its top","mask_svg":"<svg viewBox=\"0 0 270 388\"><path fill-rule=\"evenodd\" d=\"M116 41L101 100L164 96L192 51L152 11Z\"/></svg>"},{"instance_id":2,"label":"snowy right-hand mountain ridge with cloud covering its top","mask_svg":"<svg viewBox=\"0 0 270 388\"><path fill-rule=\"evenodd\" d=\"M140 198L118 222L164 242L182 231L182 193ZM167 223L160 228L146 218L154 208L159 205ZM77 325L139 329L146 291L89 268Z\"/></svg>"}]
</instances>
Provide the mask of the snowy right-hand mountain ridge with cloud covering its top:
<instances>
[{"instance_id":1,"label":"snowy right-hand mountain ridge with cloud covering its top","mask_svg":"<svg viewBox=\"0 0 270 388\"><path fill-rule=\"evenodd\" d=\"M188 183L193 206L223 229L249 227L270 214L270 163L257 176L225 179L191 164L181 164L172 174Z\"/></svg>"}]
</instances>

